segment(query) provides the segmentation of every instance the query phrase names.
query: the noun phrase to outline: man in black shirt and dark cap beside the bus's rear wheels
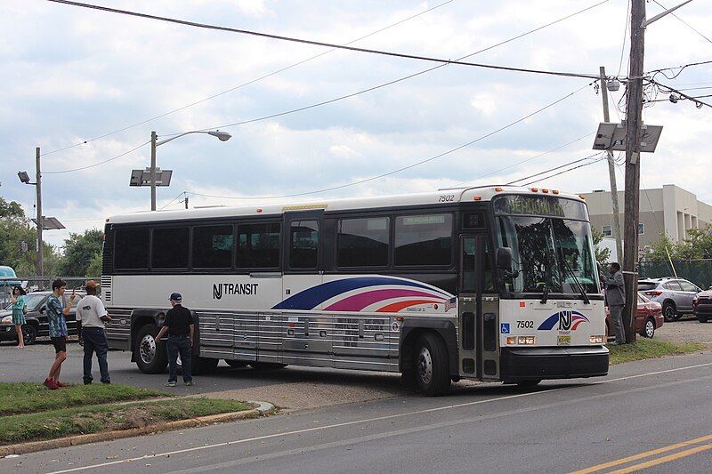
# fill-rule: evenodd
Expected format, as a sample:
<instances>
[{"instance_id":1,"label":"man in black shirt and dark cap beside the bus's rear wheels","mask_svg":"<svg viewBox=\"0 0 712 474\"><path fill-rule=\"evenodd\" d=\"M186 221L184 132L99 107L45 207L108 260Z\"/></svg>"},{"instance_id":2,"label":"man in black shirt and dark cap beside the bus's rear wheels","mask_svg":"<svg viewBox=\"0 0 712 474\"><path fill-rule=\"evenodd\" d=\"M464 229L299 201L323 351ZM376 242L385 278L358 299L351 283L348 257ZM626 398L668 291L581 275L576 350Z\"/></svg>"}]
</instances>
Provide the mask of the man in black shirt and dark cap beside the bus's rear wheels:
<instances>
[{"instance_id":1,"label":"man in black shirt and dark cap beside the bus's rear wheels","mask_svg":"<svg viewBox=\"0 0 712 474\"><path fill-rule=\"evenodd\" d=\"M190 315L190 309L183 308L181 293L171 293L171 306L166 312L166 322L158 331L156 343L168 333L168 341L166 349L168 351L168 382L166 387L175 387L175 382L178 380L177 364L178 353L181 354L183 382L186 385L193 384L191 374L193 334L195 325L193 317Z\"/></svg>"}]
</instances>

